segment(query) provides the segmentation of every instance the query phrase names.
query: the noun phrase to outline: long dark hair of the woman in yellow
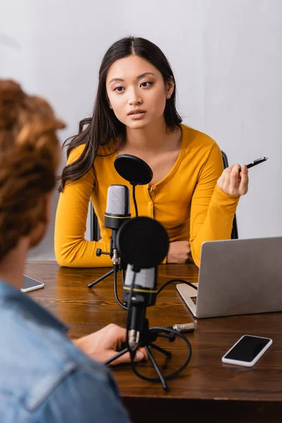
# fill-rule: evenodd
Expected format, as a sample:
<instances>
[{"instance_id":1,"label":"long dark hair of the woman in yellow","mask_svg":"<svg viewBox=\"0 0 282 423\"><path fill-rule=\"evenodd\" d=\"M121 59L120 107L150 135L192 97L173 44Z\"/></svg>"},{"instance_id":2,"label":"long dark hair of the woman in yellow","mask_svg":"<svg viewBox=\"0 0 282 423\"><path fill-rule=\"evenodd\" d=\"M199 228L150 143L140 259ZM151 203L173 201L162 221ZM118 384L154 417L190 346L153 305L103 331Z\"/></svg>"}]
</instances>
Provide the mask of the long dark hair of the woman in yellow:
<instances>
[{"instance_id":1,"label":"long dark hair of the woman in yellow","mask_svg":"<svg viewBox=\"0 0 282 423\"><path fill-rule=\"evenodd\" d=\"M93 166L99 146L107 145L110 140L115 139L121 140L121 144L125 141L126 127L121 121L118 121L114 111L109 107L109 99L106 93L106 76L110 66L116 60L132 54L152 63L163 75L165 84L171 82L171 77L173 82L175 82L168 60L156 44L140 37L126 37L112 44L109 50L106 51L99 69L99 85L93 116L80 121L78 135L68 138L63 143L63 146L65 146L66 142L68 142L67 157L79 145L85 144L85 149L77 160L63 169L59 192L63 192L66 182L78 180L89 171ZM170 130L176 129L182 122L176 111L176 86L170 99L166 100L164 120L166 127ZM86 128L84 128L85 125L87 125Z\"/></svg>"}]
</instances>

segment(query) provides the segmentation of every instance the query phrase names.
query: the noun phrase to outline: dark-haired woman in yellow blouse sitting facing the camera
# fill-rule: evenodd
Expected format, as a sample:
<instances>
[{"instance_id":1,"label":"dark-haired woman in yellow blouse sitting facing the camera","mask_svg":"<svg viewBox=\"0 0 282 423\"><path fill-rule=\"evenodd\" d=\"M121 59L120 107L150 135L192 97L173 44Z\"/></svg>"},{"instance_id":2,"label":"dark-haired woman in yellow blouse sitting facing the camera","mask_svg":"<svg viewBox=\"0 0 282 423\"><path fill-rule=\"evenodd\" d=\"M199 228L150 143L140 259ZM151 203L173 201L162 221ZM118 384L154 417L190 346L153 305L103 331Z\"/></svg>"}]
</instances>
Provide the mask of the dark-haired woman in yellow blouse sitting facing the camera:
<instances>
[{"instance_id":1,"label":"dark-haired woman in yellow blouse sitting facing the camera","mask_svg":"<svg viewBox=\"0 0 282 423\"><path fill-rule=\"evenodd\" d=\"M84 125L87 125L84 128ZM176 82L162 51L142 38L123 38L106 52L99 71L92 118L68 145L61 177L56 259L62 266L111 266L111 231L104 226L109 185L128 185L114 169L118 154L134 154L152 168L149 185L136 190L140 215L154 217L168 232L166 262L197 266L204 241L228 239L240 195L247 192L247 166L223 171L221 151L209 136L181 124ZM89 200L102 239L85 240ZM132 216L133 202L130 209Z\"/></svg>"}]
</instances>

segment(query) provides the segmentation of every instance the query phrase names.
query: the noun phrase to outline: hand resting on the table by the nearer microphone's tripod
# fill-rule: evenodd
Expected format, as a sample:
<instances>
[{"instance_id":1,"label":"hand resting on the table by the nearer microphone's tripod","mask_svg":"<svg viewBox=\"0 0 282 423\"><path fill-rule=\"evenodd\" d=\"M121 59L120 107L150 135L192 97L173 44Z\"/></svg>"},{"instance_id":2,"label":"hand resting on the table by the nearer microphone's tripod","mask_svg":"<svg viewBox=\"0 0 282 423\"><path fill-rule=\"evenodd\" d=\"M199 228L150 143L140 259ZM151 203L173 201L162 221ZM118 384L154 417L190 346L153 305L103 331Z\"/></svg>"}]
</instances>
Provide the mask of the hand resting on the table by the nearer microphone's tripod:
<instances>
[{"instance_id":1,"label":"hand resting on the table by the nearer microphone's tripod","mask_svg":"<svg viewBox=\"0 0 282 423\"><path fill-rule=\"evenodd\" d=\"M121 343L125 342L125 339L126 330L111 323L97 332L76 339L73 343L93 360L105 362L118 353ZM144 359L147 359L147 353L145 348L140 348L135 355L135 361L139 362ZM130 362L130 355L129 353L125 353L111 364L115 365L128 362Z\"/></svg>"}]
</instances>

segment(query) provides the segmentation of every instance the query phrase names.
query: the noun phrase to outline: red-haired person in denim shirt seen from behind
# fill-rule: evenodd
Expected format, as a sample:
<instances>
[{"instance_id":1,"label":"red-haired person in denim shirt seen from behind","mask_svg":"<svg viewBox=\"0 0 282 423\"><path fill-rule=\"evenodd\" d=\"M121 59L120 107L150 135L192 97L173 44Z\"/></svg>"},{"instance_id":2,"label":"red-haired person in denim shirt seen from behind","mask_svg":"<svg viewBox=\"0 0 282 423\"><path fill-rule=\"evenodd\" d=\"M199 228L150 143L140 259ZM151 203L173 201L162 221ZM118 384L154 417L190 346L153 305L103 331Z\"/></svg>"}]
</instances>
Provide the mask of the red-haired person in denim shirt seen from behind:
<instances>
[{"instance_id":1,"label":"red-haired person in denim shirt seen from behind","mask_svg":"<svg viewBox=\"0 0 282 423\"><path fill-rule=\"evenodd\" d=\"M110 324L72 342L20 292L27 251L49 223L63 127L44 99L0 80L0 422L125 423L113 376L99 364L116 354L125 329ZM144 357L140 350L135 359Z\"/></svg>"}]
</instances>

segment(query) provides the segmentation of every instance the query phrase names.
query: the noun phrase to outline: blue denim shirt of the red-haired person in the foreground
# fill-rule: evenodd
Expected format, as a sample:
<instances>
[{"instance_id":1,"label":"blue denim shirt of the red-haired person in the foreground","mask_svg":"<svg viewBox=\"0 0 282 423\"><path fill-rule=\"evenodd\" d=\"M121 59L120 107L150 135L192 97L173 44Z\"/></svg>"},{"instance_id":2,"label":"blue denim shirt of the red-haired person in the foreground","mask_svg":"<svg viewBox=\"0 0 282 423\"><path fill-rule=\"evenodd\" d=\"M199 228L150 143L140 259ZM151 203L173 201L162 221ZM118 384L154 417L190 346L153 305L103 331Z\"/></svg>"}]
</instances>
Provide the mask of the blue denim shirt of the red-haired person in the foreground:
<instances>
[{"instance_id":1,"label":"blue denim shirt of the red-haired person in the foreground","mask_svg":"<svg viewBox=\"0 0 282 423\"><path fill-rule=\"evenodd\" d=\"M109 370L27 295L0 280L0 422L128 423Z\"/></svg>"}]
</instances>

